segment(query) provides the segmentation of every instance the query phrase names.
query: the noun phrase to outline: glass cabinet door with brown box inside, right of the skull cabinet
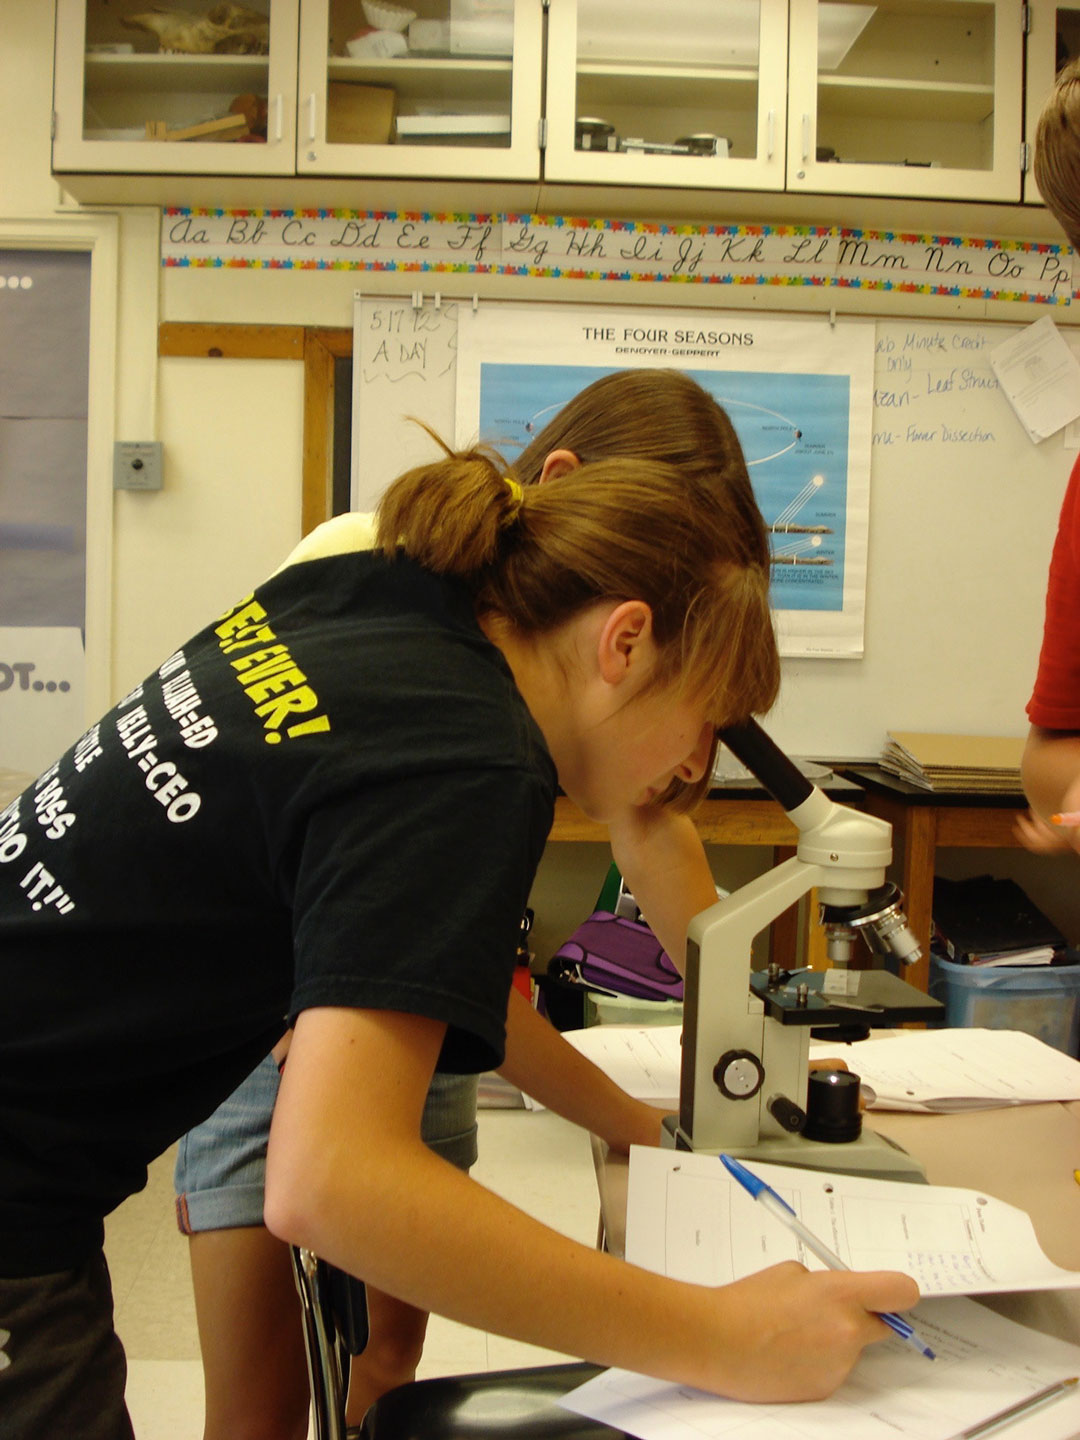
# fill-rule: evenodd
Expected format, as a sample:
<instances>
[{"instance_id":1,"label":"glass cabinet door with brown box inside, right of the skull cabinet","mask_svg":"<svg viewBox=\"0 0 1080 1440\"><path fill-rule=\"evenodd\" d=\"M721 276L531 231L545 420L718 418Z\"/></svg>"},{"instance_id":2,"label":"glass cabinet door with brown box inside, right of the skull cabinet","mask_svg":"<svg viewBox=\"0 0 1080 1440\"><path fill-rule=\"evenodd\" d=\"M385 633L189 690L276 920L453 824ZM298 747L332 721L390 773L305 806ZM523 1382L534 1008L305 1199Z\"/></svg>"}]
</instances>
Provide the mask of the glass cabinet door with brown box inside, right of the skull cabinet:
<instances>
[{"instance_id":1,"label":"glass cabinet door with brown box inside, right of the skull cabinet","mask_svg":"<svg viewBox=\"0 0 1080 1440\"><path fill-rule=\"evenodd\" d=\"M298 174L537 180L541 0L302 0Z\"/></svg>"}]
</instances>

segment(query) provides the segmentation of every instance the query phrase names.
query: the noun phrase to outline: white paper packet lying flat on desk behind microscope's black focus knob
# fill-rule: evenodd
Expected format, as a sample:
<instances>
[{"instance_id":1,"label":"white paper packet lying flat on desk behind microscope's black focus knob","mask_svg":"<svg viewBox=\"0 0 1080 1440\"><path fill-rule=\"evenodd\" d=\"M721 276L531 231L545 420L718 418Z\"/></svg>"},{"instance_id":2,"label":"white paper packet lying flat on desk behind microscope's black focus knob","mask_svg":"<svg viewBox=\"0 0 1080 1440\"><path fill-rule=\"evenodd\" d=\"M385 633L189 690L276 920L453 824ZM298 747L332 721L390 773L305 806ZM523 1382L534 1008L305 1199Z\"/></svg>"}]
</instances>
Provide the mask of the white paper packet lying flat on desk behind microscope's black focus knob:
<instances>
[{"instance_id":1,"label":"white paper packet lying flat on desk behind microscope's black focus knob","mask_svg":"<svg viewBox=\"0 0 1080 1440\"><path fill-rule=\"evenodd\" d=\"M1080 1061L1018 1030L907 1030L854 1045L811 1044L874 1090L873 1110L989 1110L1080 1100Z\"/></svg>"}]
</instances>

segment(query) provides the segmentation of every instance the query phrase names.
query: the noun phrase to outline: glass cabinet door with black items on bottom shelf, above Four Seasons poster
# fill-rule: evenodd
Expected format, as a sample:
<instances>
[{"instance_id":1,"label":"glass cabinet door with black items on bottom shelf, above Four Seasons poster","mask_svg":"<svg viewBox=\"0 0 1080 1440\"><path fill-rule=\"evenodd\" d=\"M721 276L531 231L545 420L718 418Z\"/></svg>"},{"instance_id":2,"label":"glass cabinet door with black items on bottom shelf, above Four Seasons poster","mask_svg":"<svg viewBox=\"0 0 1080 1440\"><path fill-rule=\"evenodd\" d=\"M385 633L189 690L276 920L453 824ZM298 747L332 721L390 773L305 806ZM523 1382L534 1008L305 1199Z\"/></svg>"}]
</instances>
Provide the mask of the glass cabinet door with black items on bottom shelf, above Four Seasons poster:
<instances>
[{"instance_id":1,"label":"glass cabinet door with black items on bottom shelf, above Four Seasons poster","mask_svg":"<svg viewBox=\"0 0 1080 1440\"><path fill-rule=\"evenodd\" d=\"M547 180L783 189L788 0L553 0Z\"/></svg>"}]
</instances>

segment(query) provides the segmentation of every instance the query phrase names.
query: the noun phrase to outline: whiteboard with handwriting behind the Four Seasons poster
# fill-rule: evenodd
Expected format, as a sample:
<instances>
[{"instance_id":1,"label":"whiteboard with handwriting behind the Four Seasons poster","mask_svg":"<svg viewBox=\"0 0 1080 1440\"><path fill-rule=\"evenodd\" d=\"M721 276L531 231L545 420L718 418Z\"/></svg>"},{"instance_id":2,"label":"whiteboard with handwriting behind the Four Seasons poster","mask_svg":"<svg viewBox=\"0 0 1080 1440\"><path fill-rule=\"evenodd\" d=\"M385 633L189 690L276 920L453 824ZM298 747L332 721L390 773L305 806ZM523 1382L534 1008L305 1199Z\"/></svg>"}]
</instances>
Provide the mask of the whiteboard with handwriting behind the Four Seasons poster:
<instances>
[{"instance_id":1,"label":"whiteboard with handwriting behind the Four Seasons poster","mask_svg":"<svg viewBox=\"0 0 1080 1440\"><path fill-rule=\"evenodd\" d=\"M438 454L409 416L452 439L461 304L357 295L356 508ZM876 323L865 649L785 660L766 729L789 753L877 756L890 729L1025 733L1076 442L1034 445L998 389L989 351L1021 328Z\"/></svg>"}]
</instances>

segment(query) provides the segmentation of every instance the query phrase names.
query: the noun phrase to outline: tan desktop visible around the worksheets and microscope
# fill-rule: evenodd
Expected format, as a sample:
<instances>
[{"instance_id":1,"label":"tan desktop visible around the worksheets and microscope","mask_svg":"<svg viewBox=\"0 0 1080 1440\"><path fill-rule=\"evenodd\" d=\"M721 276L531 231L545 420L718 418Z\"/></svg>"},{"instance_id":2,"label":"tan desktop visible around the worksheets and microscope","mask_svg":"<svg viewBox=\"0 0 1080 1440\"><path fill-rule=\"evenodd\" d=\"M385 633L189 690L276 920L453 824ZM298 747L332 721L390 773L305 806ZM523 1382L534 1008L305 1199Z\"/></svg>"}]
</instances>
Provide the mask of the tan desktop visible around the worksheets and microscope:
<instances>
[{"instance_id":1,"label":"tan desktop visible around the worksheets and microscope","mask_svg":"<svg viewBox=\"0 0 1080 1440\"><path fill-rule=\"evenodd\" d=\"M871 1112L865 1123L926 1166L932 1185L985 1189L1031 1215L1047 1256L1080 1270L1080 1103L1022 1104L966 1115ZM626 1240L625 1155L611 1155L593 1138L606 1247L622 1254ZM1080 1290L1032 1290L979 1297L1030 1329L1080 1344Z\"/></svg>"}]
</instances>

